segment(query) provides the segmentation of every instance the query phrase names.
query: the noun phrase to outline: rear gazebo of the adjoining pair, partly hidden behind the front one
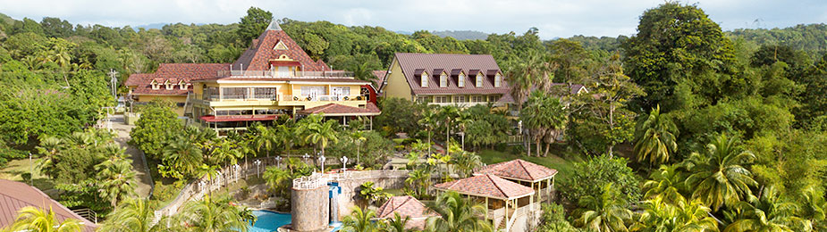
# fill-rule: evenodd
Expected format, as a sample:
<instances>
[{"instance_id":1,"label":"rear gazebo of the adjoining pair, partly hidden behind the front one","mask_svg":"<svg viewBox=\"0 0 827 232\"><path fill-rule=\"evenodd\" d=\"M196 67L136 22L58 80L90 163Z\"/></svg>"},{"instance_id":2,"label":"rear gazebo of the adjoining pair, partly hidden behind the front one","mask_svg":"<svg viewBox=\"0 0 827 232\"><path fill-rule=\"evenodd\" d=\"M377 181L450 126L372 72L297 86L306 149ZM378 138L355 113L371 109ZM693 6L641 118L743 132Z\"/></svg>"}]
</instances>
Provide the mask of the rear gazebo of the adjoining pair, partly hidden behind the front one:
<instances>
[{"instance_id":1,"label":"rear gazebo of the adjoining pair, partly hidden behind the front one","mask_svg":"<svg viewBox=\"0 0 827 232\"><path fill-rule=\"evenodd\" d=\"M550 199L548 196L551 195L552 186L554 186L554 175L556 174L557 170L520 159L494 163L474 172L475 176L494 175L531 187L538 193L536 202Z\"/></svg>"}]
</instances>

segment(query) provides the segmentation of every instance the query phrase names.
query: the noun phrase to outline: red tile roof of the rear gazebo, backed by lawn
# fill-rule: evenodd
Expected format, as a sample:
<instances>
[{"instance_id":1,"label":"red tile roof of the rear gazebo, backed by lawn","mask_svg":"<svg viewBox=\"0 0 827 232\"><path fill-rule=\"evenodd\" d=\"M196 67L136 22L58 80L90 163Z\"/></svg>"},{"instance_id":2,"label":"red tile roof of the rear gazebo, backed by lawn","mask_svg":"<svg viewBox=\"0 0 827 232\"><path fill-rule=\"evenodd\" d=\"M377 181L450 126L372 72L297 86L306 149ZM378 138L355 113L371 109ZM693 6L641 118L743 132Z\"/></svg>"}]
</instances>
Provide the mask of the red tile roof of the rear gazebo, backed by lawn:
<instances>
[{"instance_id":1,"label":"red tile roof of the rear gazebo, backed by lawn","mask_svg":"<svg viewBox=\"0 0 827 232\"><path fill-rule=\"evenodd\" d=\"M501 178L511 178L526 181L537 181L552 178L557 170L520 159L510 162L498 162L477 170L475 175L494 175Z\"/></svg>"}]
</instances>

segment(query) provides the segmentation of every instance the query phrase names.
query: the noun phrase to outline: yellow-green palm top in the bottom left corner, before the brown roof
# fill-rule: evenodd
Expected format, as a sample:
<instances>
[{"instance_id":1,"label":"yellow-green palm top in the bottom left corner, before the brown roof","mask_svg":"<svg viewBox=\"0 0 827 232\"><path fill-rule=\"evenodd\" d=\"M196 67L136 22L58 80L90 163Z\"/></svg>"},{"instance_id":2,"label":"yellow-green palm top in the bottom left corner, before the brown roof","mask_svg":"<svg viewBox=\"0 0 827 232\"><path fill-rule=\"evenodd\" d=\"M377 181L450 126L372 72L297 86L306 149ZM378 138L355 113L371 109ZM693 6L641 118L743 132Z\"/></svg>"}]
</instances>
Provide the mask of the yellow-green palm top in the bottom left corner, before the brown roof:
<instances>
[{"instance_id":1,"label":"yellow-green palm top in the bottom left corner, before the brown roof","mask_svg":"<svg viewBox=\"0 0 827 232\"><path fill-rule=\"evenodd\" d=\"M26 206L18 211L17 220L9 228L11 231L80 232L80 222L75 219L58 222L51 206L48 211Z\"/></svg>"}]
</instances>

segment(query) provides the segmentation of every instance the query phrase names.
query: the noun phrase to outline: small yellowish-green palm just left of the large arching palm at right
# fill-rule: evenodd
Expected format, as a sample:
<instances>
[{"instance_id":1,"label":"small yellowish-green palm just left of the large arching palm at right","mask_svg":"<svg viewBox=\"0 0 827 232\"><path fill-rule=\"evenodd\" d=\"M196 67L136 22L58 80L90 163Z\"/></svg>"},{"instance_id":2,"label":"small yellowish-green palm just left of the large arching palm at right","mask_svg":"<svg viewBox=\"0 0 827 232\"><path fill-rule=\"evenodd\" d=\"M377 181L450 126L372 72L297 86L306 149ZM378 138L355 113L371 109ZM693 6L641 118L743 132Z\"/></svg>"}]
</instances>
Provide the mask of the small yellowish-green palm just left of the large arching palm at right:
<instances>
[{"instance_id":1,"label":"small yellowish-green palm just left of the large arching palm at right","mask_svg":"<svg viewBox=\"0 0 827 232\"><path fill-rule=\"evenodd\" d=\"M686 197L680 192L686 189L686 178L678 169L678 165L661 165L660 169L649 174L649 180L643 184L646 199L662 197L666 203L685 201Z\"/></svg>"}]
</instances>

